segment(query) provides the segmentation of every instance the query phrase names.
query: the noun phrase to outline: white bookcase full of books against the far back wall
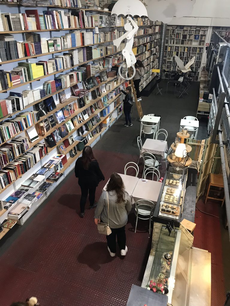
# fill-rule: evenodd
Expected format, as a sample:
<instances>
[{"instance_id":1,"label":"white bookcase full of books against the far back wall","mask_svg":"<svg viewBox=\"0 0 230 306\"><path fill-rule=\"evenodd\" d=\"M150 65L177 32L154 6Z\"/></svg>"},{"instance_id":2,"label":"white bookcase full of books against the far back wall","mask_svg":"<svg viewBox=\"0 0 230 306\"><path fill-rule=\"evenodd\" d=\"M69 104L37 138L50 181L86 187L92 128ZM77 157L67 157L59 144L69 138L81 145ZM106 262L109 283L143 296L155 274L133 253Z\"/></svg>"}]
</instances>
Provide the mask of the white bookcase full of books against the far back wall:
<instances>
[{"instance_id":1,"label":"white bookcase full of books against the far back wall","mask_svg":"<svg viewBox=\"0 0 230 306\"><path fill-rule=\"evenodd\" d=\"M195 62L191 68L195 71L193 76L194 80L197 81L200 74L202 55L205 50L207 31L207 27L168 26L163 69L178 69L173 58L174 53L184 62L184 64L195 56Z\"/></svg>"}]
</instances>

